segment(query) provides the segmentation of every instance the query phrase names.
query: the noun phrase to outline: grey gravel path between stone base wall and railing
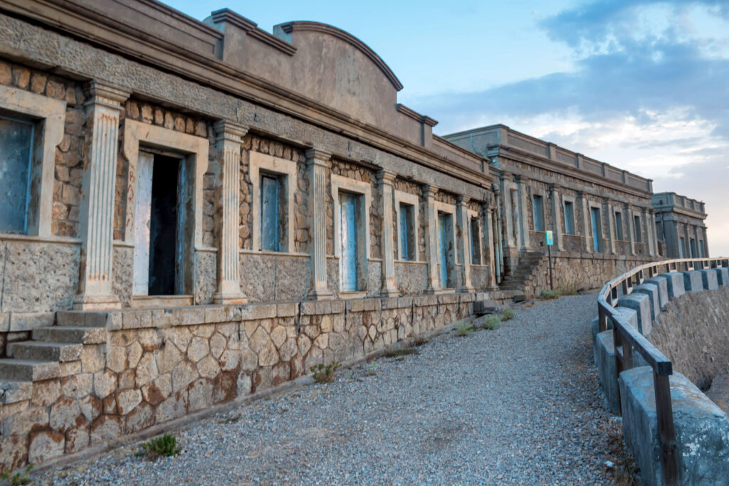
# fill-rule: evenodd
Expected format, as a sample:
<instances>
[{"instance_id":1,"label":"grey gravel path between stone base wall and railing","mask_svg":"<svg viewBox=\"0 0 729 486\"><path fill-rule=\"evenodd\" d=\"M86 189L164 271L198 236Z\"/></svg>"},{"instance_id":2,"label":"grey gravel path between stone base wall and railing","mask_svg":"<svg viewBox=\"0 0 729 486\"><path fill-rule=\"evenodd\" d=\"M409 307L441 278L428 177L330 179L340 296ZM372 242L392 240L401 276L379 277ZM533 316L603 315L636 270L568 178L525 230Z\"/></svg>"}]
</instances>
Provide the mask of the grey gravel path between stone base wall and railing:
<instances>
[{"instance_id":1,"label":"grey gravel path between stone base wall and railing","mask_svg":"<svg viewBox=\"0 0 729 486\"><path fill-rule=\"evenodd\" d=\"M340 369L335 383L172 431L175 457L137 458L130 444L34 482L609 484L615 420L592 366L595 302L517 305L499 330L444 334L419 355Z\"/></svg>"}]
</instances>

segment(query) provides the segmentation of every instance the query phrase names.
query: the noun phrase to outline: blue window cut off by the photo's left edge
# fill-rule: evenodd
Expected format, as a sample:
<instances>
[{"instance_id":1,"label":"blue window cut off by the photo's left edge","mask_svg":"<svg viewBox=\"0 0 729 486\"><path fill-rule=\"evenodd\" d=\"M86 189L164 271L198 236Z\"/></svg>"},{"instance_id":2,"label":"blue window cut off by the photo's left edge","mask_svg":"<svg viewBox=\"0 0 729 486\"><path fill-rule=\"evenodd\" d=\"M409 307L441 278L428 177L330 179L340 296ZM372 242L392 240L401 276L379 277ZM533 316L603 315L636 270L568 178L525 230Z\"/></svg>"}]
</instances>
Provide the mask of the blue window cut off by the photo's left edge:
<instances>
[{"instance_id":1,"label":"blue window cut off by the photo's left edge","mask_svg":"<svg viewBox=\"0 0 729 486\"><path fill-rule=\"evenodd\" d=\"M26 233L34 125L0 117L0 232Z\"/></svg>"}]
</instances>

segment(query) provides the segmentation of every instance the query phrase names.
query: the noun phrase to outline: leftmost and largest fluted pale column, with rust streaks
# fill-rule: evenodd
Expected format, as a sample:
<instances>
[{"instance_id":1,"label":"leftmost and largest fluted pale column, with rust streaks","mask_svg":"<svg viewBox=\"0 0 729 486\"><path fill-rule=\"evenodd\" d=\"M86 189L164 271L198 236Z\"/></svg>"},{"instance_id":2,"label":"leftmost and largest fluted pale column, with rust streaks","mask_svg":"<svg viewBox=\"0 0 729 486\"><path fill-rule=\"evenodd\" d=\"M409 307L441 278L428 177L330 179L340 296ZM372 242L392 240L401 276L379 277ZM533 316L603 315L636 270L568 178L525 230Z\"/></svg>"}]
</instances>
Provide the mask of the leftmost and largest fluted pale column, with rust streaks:
<instances>
[{"instance_id":1,"label":"leftmost and largest fluted pale column, with rust streaks","mask_svg":"<svg viewBox=\"0 0 729 486\"><path fill-rule=\"evenodd\" d=\"M91 81L85 86L86 137L79 205L79 292L74 309L121 307L112 290L114 262L114 188L117 176L119 114L129 93Z\"/></svg>"}]
</instances>

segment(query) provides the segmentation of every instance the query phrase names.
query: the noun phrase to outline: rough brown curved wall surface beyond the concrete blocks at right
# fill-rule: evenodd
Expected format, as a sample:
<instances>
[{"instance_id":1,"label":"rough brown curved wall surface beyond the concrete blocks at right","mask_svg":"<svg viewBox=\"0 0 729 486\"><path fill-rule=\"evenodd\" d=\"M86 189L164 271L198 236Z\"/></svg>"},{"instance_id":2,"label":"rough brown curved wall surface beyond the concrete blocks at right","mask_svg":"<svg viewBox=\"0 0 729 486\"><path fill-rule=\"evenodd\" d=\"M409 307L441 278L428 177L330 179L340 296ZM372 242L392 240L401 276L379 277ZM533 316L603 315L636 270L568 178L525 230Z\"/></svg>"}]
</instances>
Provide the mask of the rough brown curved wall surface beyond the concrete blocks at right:
<instances>
[{"instance_id":1,"label":"rough brown curved wall surface beyond the concrete blocks at right","mask_svg":"<svg viewBox=\"0 0 729 486\"><path fill-rule=\"evenodd\" d=\"M670 299L653 324L650 342L676 371L708 389L714 377L729 372L729 287Z\"/></svg>"}]
</instances>

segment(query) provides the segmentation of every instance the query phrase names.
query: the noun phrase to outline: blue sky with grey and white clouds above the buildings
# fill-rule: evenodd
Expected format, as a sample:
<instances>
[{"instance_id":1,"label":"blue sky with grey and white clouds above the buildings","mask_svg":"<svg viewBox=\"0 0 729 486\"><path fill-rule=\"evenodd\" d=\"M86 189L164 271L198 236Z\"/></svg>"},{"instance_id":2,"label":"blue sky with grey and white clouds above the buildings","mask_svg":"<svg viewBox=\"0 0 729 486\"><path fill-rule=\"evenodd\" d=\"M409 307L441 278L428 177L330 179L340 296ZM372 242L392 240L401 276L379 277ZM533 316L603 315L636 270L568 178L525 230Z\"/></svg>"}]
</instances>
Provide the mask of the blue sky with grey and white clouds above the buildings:
<instances>
[{"instance_id":1,"label":"blue sky with grey and white clouds above the buildings","mask_svg":"<svg viewBox=\"0 0 729 486\"><path fill-rule=\"evenodd\" d=\"M504 123L650 177L705 201L709 251L729 256L729 0L166 3L343 28L435 133Z\"/></svg>"}]
</instances>

